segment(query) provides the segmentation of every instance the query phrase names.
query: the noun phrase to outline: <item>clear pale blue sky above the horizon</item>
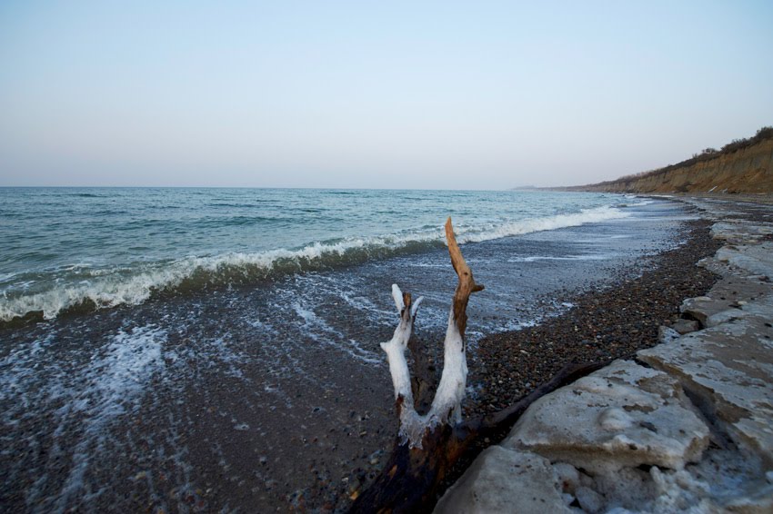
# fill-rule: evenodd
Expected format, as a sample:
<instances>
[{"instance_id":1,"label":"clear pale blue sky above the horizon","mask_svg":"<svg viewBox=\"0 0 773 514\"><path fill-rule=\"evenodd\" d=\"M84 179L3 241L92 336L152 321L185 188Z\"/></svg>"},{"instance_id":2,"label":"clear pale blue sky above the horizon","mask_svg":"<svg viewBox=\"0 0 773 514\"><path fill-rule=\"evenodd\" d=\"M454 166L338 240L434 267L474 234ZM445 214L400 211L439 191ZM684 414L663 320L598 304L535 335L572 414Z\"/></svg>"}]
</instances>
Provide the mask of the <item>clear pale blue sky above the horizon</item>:
<instances>
[{"instance_id":1,"label":"clear pale blue sky above the horizon","mask_svg":"<svg viewBox=\"0 0 773 514\"><path fill-rule=\"evenodd\" d=\"M0 2L0 185L596 183L773 125L773 2Z\"/></svg>"}]
</instances>

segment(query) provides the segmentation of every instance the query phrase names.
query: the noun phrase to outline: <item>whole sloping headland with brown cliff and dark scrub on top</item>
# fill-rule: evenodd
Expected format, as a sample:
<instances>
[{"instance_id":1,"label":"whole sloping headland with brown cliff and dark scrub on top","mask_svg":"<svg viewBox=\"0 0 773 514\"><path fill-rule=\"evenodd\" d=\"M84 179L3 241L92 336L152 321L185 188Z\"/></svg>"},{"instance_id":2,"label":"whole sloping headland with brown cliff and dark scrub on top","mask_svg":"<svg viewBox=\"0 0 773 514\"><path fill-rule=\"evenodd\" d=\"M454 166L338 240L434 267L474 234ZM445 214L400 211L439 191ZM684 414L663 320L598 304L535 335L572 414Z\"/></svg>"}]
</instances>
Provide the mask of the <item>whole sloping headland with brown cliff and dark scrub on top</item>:
<instances>
[{"instance_id":1,"label":"whole sloping headland with brown cliff and dark scrub on top","mask_svg":"<svg viewBox=\"0 0 773 514\"><path fill-rule=\"evenodd\" d=\"M706 148L681 163L587 185L550 188L601 193L773 193L773 127Z\"/></svg>"}]
</instances>

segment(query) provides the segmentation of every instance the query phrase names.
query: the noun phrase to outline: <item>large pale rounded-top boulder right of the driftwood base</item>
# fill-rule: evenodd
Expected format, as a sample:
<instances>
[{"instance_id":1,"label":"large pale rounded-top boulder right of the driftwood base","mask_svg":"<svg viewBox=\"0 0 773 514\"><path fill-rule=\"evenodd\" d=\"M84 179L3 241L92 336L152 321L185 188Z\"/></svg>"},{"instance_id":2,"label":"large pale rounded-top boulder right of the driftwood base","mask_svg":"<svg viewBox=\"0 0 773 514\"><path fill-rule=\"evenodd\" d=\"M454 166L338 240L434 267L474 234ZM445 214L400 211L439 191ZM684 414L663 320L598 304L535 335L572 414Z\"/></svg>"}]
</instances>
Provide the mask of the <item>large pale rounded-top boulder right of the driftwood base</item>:
<instances>
[{"instance_id":1,"label":"large pale rounded-top boulder right of the driftwood base","mask_svg":"<svg viewBox=\"0 0 773 514\"><path fill-rule=\"evenodd\" d=\"M502 444L585 470L681 470L700 459L708 434L677 380L615 361L537 400Z\"/></svg>"}]
</instances>

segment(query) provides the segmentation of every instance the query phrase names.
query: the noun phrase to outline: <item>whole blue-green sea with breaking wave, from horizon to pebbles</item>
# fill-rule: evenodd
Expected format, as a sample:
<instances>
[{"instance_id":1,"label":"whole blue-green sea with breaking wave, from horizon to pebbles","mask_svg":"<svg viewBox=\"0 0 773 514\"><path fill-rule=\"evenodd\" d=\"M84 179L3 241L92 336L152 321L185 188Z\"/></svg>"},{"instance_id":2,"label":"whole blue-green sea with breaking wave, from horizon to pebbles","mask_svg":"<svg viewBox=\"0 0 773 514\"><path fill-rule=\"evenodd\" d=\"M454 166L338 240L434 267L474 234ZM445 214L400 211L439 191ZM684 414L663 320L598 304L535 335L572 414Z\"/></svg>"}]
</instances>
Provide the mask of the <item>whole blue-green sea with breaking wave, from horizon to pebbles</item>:
<instances>
[{"instance_id":1,"label":"whole blue-green sea with breaking wave, from horizon to pebbles","mask_svg":"<svg viewBox=\"0 0 773 514\"><path fill-rule=\"evenodd\" d=\"M486 286L470 367L481 337L641 272L694 218L540 190L0 188L0 505L337 509L397 428L393 283L442 344L449 216Z\"/></svg>"}]
</instances>

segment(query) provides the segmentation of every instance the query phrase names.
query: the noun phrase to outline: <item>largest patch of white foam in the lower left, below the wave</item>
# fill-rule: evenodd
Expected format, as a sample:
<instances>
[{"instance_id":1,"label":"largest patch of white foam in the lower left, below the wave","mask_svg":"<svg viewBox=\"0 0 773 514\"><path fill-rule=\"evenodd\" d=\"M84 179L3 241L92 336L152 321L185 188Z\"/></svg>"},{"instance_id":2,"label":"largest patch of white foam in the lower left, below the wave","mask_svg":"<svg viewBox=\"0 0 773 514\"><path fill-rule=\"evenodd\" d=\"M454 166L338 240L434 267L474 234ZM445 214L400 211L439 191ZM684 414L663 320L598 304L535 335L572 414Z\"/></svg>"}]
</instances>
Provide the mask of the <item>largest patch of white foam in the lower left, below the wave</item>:
<instances>
[{"instance_id":1,"label":"largest patch of white foam in the lower left, below the wave","mask_svg":"<svg viewBox=\"0 0 773 514\"><path fill-rule=\"evenodd\" d=\"M80 350L71 350L68 356L69 351L63 353L55 348L59 341L55 333L50 333L42 340L17 347L0 362L0 398L12 400L15 405L0 419L6 426L13 426L53 409L55 430L48 459L68 463L66 479L54 484L59 491L55 498L48 496L53 478L47 473L26 490L31 509L45 504L45 509L63 512L73 507L70 502L75 498L87 501L102 494L102 489L92 489L85 483L89 464L103 452L115 421L136 410L146 384L163 372L165 341L166 331L155 325L121 330L89 359Z\"/></svg>"}]
</instances>

